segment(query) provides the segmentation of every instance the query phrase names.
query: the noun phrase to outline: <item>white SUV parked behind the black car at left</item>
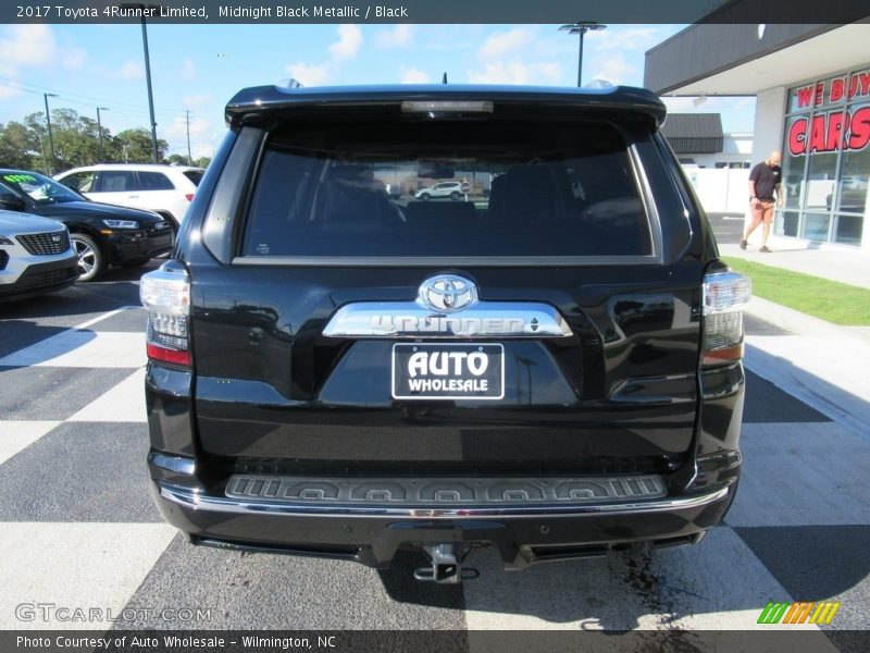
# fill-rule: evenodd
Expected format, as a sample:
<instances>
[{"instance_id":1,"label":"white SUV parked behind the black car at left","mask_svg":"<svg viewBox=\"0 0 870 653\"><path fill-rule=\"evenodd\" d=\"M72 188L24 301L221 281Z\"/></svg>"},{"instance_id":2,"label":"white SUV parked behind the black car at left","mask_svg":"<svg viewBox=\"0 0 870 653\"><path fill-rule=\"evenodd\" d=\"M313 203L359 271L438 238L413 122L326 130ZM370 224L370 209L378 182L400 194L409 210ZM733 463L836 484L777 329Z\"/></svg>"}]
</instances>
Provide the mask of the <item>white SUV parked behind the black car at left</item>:
<instances>
[{"instance_id":1,"label":"white SUV parked behind the black car at left","mask_svg":"<svg viewBox=\"0 0 870 653\"><path fill-rule=\"evenodd\" d=\"M203 172L186 165L103 163L74 168L54 178L94 201L160 213L177 233Z\"/></svg>"}]
</instances>

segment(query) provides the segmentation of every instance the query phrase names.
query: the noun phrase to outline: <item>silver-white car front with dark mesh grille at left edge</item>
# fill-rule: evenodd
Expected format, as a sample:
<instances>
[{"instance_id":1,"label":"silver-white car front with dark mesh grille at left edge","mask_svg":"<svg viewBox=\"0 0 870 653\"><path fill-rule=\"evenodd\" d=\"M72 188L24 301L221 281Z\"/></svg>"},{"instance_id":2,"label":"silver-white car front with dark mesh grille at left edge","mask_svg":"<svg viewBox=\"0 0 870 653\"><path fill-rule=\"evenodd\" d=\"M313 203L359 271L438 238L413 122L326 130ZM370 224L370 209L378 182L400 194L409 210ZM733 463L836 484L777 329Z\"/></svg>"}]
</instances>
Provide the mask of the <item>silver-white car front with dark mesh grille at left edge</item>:
<instances>
[{"instance_id":1,"label":"silver-white car front with dark mesh grille at left edge","mask_svg":"<svg viewBox=\"0 0 870 653\"><path fill-rule=\"evenodd\" d=\"M64 225L0 210L0 301L61 291L76 279L78 257Z\"/></svg>"}]
</instances>

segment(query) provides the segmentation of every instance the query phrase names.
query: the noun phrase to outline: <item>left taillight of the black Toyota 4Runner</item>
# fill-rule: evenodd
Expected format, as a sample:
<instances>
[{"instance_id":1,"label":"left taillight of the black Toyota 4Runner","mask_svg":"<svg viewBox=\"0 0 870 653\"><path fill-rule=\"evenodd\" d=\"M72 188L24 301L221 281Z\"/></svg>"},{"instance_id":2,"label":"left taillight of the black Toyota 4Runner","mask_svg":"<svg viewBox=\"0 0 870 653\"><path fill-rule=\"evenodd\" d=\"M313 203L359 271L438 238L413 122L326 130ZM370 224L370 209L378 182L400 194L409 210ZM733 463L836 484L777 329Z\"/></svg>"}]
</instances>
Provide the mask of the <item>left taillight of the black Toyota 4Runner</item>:
<instances>
[{"instance_id":1,"label":"left taillight of the black Toyota 4Runner","mask_svg":"<svg viewBox=\"0 0 870 653\"><path fill-rule=\"evenodd\" d=\"M190 315L190 280L185 269L171 261L144 274L139 284L139 298L148 309L148 358L189 366L187 326Z\"/></svg>"}]
</instances>

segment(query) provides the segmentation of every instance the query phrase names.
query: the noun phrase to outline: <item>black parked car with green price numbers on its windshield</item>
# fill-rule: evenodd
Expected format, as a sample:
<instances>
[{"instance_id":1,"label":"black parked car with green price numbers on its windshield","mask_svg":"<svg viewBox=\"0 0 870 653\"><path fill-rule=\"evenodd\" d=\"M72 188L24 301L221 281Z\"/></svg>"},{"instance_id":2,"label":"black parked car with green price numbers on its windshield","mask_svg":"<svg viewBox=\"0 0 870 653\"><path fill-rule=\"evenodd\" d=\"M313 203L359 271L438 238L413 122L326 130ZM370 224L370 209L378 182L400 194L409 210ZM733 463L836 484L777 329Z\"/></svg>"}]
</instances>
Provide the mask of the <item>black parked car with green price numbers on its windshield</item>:
<instances>
[{"instance_id":1,"label":"black parked car with green price numbers on its windshield","mask_svg":"<svg viewBox=\"0 0 870 653\"><path fill-rule=\"evenodd\" d=\"M173 247L172 229L157 213L98 204L37 172L0 170L0 208L63 222L78 255L79 281L109 266L137 268Z\"/></svg>"}]
</instances>

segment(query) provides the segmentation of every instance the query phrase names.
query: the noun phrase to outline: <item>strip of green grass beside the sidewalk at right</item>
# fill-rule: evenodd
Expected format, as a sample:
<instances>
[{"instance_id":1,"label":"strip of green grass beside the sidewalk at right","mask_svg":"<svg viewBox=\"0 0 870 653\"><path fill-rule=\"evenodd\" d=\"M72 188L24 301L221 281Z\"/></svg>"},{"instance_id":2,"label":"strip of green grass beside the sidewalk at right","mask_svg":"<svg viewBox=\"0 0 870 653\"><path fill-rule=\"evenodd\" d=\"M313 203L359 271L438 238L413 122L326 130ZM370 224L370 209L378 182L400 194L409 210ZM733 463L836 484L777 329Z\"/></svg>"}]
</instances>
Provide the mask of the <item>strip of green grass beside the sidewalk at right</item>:
<instances>
[{"instance_id":1,"label":"strip of green grass beside the sidewalk at right","mask_svg":"<svg viewBox=\"0 0 870 653\"><path fill-rule=\"evenodd\" d=\"M758 297L834 324L870 326L870 289L741 258L724 260L753 280L753 294Z\"/></svg>"}]
</instances>

